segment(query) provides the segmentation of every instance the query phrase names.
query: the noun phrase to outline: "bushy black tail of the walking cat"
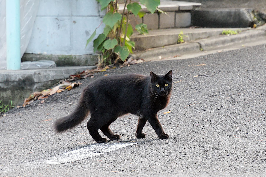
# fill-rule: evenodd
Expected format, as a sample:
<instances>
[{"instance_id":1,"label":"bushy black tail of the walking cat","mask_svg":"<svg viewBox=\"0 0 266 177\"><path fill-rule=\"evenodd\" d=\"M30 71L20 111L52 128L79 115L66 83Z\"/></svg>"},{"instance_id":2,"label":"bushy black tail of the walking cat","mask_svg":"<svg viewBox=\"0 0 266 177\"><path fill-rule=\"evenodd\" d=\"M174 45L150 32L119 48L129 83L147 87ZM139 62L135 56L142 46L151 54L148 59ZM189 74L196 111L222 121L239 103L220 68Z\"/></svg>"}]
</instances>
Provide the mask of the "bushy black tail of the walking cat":
<instances>
[{"instance_id":1,"label":"bushy black tail of the walking cat","mask_svg":"<svg viewBox=\"0 0 266 177\"><path fill-rule=\"evenodd\" d=\"M64 132L80 124L88 115L89 109L86 106L83 96L74 111L66 117L57 119L54 127L57 132Z\"/></svg>"}]
</instances>

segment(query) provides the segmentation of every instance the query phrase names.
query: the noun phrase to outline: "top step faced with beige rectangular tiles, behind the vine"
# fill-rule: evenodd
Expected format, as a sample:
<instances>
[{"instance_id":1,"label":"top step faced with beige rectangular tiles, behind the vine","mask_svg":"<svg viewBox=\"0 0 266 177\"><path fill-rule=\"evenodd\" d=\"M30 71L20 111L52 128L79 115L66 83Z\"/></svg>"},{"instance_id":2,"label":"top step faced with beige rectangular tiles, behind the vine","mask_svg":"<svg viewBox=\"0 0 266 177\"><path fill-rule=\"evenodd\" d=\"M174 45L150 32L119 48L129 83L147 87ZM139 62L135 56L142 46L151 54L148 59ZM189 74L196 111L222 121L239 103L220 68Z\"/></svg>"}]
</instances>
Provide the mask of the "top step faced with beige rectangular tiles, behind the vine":
<instances>
[{"instance_id":1,"label":"top step faced with beige rectangular tiles, behind the vine","mask_svg":"<svg viewBox=\"0 0 266 177\"><path fill-rule=\"evenodd\" d=\"M199 9L200 6L201 3L161 0L158 8L168 14L162 14L157 11L154 14L150 14L146 7L141 5L141 11L147 14L142 18L130 14L129 23L133 27L136 24L145 23L147 24L148 30L189 27L191 26L191 11L193 9ZM120 13L123 13L123 9L124 4L119 4ZM125 12L127 12L127 9L125 9Z\"/></svg>"}]
</instances>

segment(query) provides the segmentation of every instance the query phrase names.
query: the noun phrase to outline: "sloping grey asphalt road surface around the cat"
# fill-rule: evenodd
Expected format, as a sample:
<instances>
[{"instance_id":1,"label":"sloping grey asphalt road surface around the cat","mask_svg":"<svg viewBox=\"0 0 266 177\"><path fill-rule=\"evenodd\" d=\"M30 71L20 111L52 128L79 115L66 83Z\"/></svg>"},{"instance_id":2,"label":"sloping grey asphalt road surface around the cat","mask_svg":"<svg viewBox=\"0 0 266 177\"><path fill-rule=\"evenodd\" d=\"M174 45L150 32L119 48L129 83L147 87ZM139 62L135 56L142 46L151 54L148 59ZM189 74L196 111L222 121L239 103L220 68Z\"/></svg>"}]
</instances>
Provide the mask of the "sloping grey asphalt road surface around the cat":
<instances>
[{"instance_id":1,"label":"sloping grey asphalt road surface around the cat","mask_svg":"<svg viewBox=\"0 0 266 177\"><path fill-rule=\"evenodd\" d=\"M131 114L111 124L121 139L103 144L95 143L86 122L53 131L94 79L171 69L171 101L158 113L169 139L159 140L148 123L146 138L136 139ZM266 176L266 45L146 62L80 81L0 118L0 176Z\"/></svg>"}]
</instances>

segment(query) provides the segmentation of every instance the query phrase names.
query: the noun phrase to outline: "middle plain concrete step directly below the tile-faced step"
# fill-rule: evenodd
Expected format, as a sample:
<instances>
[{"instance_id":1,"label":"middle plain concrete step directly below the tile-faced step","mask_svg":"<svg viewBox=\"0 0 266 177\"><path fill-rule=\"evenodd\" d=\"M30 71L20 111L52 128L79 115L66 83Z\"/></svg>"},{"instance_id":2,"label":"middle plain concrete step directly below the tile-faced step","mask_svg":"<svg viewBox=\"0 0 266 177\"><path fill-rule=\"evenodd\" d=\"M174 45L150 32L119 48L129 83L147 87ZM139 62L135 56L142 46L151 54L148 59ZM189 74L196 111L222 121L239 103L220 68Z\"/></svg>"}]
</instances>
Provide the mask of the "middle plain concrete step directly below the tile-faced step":
<instances>
[{"instance_id":1,"label":"middle plain concrete step directly below the tile-faced step","mask_svg":"<svg viewBox=\"0 0 266 177\"><path fill-rule=\"evenodd\" d=\"M223 30L245 31L251 28L172 28L150 30L147 35L139 35L134 32L131 37L135 44L135 51L146 50L154 47L177 44L178 35L183 32L184 41L191 42L203 38L221 35Z\"/></svg>"}]
</instances>

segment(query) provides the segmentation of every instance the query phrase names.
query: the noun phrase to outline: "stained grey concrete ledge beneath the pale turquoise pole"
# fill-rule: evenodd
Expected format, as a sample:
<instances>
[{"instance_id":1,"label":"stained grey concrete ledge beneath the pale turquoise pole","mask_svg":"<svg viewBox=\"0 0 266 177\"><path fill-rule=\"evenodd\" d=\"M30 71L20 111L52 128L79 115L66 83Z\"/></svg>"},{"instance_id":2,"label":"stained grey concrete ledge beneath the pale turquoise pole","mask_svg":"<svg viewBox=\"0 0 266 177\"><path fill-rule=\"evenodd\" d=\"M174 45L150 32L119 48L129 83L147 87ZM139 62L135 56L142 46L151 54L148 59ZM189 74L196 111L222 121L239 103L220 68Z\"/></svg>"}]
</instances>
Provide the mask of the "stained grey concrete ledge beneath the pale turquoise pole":
<instances>
[{"instance_id":1,"label":"stained grey concrete ledge beneath the pale turquoise pole","mask_svg":"<svg viewBox=\"0 0 266 177\"><path fill-rule=\"evenodd\" d=\"M0 100L8 104L22 104L25 97L34 91L48 89L51 85L69 75L81 73L96 66L56 67L35 70L1 70L0 71Z\"/></svg>"}]
</instances>

